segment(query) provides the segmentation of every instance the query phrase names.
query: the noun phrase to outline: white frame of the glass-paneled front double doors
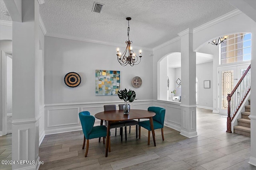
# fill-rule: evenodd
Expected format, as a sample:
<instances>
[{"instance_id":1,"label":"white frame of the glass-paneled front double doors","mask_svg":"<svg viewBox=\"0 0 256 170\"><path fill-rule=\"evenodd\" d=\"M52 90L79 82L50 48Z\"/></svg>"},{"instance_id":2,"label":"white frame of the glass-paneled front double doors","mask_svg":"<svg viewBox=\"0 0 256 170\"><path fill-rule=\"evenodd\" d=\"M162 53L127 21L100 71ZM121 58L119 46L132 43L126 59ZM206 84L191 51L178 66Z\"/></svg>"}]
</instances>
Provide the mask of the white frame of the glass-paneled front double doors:
<instances>
[{"instance_id":1,"label":"white frame of the glass-paneled front double doors","mask_svg":"<svg viewBox=\"0 0 256 170\"><path fill-rule=\"evenodd\" d=\"M229 67L237 67L237 68L241 68L241 66L244 66L244 65L250 65L250 63L251 62L243 62L243 63L240 63L240 64L234 64L234 63L232 63L232 64L230 64L230 65L225 65L225 66L219 66L217 69L218 69L218 72L217 72L217 80L218 80L218 88L217 88L217 92L218 92L218 113L219 114L223 114L223 113L220 113L220 107L221 107L221 105L220 105L220 100L221 100L221 96L220 96L220 86L221 86L221 78L220 78L220 70L221 69L225 69L225 68L229 68ZM248 68L248 66L246 67L246 68ZM235 71L234 71L235 72ZM237 82L239 81L239 79L240 78L238 78L238 77L240 77L240 72L239 72L239 75L238 75L238 71L237 71L237 69L236 69L236 76L237 76L237 79L238 80L236 80L236 82L234 81L234 87L236 86L236 84L237 84ZM227 114L225 114L225 115L228 115L228 112L227 112Z\"/></svg>"}]
</instances>

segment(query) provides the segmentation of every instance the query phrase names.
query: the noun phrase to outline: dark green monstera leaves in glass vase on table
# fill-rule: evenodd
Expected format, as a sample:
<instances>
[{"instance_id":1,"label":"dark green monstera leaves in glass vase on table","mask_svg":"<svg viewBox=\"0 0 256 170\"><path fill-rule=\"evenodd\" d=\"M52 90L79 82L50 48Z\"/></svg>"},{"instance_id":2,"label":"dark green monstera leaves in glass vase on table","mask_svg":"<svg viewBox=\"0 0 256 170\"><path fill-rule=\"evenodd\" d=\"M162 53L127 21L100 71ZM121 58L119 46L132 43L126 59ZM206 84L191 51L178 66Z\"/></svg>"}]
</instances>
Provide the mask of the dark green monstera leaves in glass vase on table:
<instances>
[{"instance_id":1,"label":"dark green monstera leaves in glass vase on table","mask_svg":"<svg viewBox=\"0 0 256 170\"><path fill-rule=\"evenodd\" d=\"M124 90L118 90L118 97L121 100L124 100L124 114L128 114L130 111L130 106L128 105L128 103L136 100L136 93L133 90L128 91L125 88Z\"/></svg>"}]
</instances>

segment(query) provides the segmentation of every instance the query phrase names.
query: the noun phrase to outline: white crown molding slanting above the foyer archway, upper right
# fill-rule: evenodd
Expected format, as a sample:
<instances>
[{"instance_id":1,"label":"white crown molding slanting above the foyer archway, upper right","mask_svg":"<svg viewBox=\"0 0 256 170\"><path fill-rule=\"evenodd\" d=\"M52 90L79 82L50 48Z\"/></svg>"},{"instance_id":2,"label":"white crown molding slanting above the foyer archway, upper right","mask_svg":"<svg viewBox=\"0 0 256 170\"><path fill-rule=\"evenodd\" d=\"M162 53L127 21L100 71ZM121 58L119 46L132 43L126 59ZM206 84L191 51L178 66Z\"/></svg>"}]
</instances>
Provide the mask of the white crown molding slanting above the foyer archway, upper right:
<instances>
[{"instance_id":1,"label":"white crown molding slanting above the foyer archway, upper right","mask_svg":"<svg viewBox=\"0 0 256 170\"><path fill-rule=\"evenodd\" d=\"M236 10L233 10L231 12L228 12L227 14L223 15L223 16L220 16L212 21L209 21L207 23L204 23L203 25L200 25L199 27L196 27L193 29L193 33L196 33L198 31L201 31L203 29L206 29L212 25L215 25L221 21L224 21L224 20L227 20L228 18L231 18L233 16L236 16L238 14L242 13L240 10L236 9Z\"/></svg>"}]
</instances>

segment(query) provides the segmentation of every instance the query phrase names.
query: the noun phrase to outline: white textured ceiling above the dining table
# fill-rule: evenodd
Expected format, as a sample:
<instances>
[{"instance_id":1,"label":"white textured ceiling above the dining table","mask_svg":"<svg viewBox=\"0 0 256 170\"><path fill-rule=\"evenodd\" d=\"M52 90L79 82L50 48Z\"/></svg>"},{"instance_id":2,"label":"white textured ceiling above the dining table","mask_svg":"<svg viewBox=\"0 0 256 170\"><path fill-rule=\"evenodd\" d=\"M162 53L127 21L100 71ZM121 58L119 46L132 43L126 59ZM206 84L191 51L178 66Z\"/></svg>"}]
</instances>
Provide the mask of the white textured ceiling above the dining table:
<instances>
[{"instance_id":1,"label":"white textured ceiling above the dining table","mask_svg":"<svg viewBox=\"0 0 256 170\"><path fill-rule=\"evenodd\" d=\"M131 17L133 45L154 48L235 9L223 0L45 0L40 15L48 33L112 43L125 43Z\"/></svg>"}]
</instances>

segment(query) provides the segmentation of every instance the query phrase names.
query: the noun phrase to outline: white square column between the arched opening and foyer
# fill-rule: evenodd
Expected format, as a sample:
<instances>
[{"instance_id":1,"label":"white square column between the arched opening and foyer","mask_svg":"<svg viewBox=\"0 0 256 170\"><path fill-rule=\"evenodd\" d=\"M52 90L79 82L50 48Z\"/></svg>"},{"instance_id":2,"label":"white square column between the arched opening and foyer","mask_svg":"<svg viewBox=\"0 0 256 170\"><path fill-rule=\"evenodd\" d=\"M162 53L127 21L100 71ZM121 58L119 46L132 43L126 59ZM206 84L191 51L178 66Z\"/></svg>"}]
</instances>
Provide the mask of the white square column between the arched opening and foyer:
<instances>
[{"instance_id":1,"label":"white square column between the arched opening and foyer","mask_svg":"<svg viewBox=\"0 0 256 170\"><path fill-rule=\"evenodd\" d=\"M196 52L193 52L192 29L178 33L181 37L181 130L186 137L196 132Z\"/></svg>"}]
</instances>

